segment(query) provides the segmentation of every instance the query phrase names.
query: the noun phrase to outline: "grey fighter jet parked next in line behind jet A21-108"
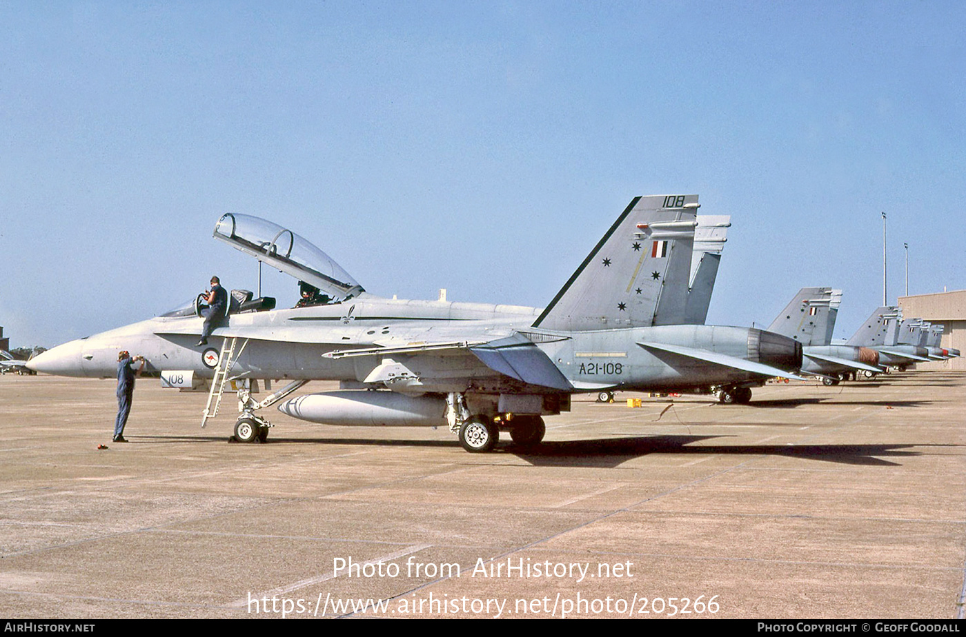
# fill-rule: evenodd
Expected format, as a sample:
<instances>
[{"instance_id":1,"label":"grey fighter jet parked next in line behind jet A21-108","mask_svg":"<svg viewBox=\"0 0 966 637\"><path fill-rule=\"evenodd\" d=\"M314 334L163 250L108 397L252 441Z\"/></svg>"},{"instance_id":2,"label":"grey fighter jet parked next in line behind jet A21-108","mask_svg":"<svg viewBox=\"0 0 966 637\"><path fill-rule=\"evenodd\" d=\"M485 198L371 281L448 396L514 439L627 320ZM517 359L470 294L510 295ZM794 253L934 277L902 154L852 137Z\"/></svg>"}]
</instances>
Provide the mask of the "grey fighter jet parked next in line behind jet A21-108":
<instances>
[{"instance_id":1,"label":"grey fighter jet parked next in line behind jet A21-108","mask_svg":"<svg viewBox=\"0 0 966 637\"><path fill-rule=\"evenodd\" d=\"M832 288L802 288L769 325L768 331L801 342L802 372L815 374L826 385L838 385L845 374L881 372L879 352L869 347L832 345L842 292Z\"/></svg>"}]
</instances>

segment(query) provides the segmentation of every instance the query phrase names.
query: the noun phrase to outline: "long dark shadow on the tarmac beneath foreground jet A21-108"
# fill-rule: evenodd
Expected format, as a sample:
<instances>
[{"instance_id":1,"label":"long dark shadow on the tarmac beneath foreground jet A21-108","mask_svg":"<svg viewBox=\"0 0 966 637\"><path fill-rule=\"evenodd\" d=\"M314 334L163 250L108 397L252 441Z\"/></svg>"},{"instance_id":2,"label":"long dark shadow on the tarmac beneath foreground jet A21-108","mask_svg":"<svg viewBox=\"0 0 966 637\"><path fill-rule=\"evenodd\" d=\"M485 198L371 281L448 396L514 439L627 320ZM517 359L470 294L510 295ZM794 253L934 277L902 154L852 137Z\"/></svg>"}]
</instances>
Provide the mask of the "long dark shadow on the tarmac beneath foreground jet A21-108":
<instances>
[{"instance_id":1,"label":"long dark shadow on the tarmac beneath foreground jet A21-108","mask_svg":"<svg viewBox=\"0 0 966 637\"><path fill-rule=\"evenodd\" d=\"M595 440L544 441L542 444L523 448L503 439L493 452L494 457L504 454L519 457L534 466L572 466L613 468L636 457L652 454L684 454L696 456L781 456L798 457L824 462L867 466L898 466L900 463L884 458L921 456L921 452L903 451L917 445L693 445L697 442L732 436L721 435L641 435ZM133 442L219 442L225 437L214 436L132 436ZM239 445L243 443L238 443ZM459 448L456 440L400 440L389 438L269 438L264 443L353 445L373 447L424 447ZM934 446L934 445L930 445ZM949 445L956 446L956 445ZM473 456L485 458L487 455Z\"/></svg>"}]
</instances>

